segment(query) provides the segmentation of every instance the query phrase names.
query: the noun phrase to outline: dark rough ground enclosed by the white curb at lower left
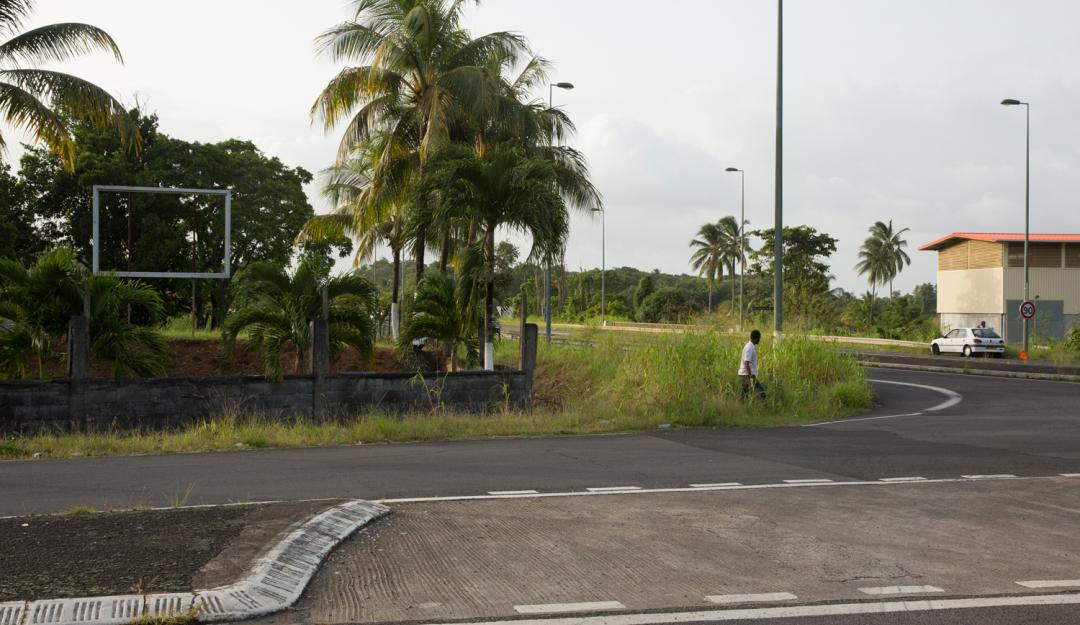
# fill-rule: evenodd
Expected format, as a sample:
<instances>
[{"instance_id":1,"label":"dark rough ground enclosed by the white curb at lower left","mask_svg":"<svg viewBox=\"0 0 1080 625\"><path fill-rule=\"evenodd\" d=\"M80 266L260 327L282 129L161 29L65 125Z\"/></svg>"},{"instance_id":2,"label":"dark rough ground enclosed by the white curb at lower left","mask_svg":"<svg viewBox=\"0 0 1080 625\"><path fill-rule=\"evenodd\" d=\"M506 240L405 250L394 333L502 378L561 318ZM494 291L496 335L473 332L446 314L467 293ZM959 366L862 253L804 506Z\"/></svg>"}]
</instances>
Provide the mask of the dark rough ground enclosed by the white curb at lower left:
<instances>
[{"instance_id":1,"label":"dark rough ground enclosed by the white curb at lower left","mask_svg":"<svg viewBox=\"0 0 1080 625\"><path fill-rule=\"evenodd\" d=\"M187 592L241 576L333 502L0 519L0 601Z\"/></svg>"}]
</instances>

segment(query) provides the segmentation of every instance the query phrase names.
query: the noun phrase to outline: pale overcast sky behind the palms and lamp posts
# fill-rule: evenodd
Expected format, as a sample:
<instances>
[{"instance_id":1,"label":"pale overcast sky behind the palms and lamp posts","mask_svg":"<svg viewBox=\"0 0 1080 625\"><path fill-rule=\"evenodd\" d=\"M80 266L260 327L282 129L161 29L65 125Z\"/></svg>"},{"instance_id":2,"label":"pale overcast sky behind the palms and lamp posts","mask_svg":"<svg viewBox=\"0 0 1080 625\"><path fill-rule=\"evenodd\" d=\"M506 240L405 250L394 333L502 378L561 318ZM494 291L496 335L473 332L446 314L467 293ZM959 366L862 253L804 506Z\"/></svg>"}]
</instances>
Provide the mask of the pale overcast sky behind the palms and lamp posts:
<instances>
[{"instance_id":1,"label":"pale overcast sky behind the palms and lamp posts","mask_svg":"<svg viewBox=\"0 0 1080 625\"><path fill-rule=\"evenodd\" d=\"M251 139L318 172L339 135L309 110L339 68L312 42L348 16L341 0L41 0L29 25L106 29L123 66L95 55L64 70L157 112L163 132ZM919 245L1023 231L1024 110L1003 98L1031 103L1032 232L1080 232L1077 24L1075 0L786 2L784 221L839 240L834 286L867 290L854 264L876 220L910 229L903 291L934 281ZM751 228L772 227L775 1L486 0L465 27L525 35L552 80L576 85L555 104L604 194L607 267L689 272L697 230L738 215L729 166L746 172ZM575 216L567 268L599 267L600 239L596 216Z\"/></svg>"}]
</instances>

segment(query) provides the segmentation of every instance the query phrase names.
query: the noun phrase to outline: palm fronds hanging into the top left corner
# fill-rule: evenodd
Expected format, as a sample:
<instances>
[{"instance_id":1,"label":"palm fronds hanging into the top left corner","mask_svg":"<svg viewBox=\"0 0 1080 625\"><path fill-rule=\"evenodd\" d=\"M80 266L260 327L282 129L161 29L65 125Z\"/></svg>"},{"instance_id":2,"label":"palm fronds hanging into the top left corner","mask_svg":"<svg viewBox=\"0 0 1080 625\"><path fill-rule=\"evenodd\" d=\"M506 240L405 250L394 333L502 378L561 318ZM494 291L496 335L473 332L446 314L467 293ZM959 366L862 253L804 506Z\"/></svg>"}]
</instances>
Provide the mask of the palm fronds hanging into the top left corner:
<instances>
[{"instance_id":1,"label":"palm fronds hanging into the top left corner","mask_svg":"<svg viewBox=\"0 0 1080 625\"><path fill-rule=\"evenodd\" d=\"M18 32L33 0L0 0L0 29L15 33L0 43L0 114L49 146L68 172L75 169L71 122L116 126L124 141L138 149L138 128L123 105L102 87L75 76L27 67L64 63L104 51L123 63L108 32L87 24L52 24ZM0 137L0 149L6 142Z\"/></svg>"}]
</instances>

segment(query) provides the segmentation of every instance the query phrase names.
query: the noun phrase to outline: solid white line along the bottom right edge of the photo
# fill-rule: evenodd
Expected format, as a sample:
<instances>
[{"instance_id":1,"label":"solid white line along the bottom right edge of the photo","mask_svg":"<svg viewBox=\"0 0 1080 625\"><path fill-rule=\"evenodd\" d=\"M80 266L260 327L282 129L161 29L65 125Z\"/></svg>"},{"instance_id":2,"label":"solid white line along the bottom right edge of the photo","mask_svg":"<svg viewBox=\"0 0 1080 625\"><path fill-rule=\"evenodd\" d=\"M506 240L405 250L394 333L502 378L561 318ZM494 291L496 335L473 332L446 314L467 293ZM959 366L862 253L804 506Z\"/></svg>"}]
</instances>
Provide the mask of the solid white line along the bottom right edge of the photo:
<instances>
[{"instance_id":1,"label":"solid white line along the bottom right edge of the photo","mask_svg":"<svg viewBox=\"0 0 1080 625\"><path fill-rule=\"evenodd\" d=\"M715 623L765 619L894 614L899 612L968 610L973 608L1078 604L1080 604L1080 594L1069 593L1063 595L1015 595L1010 597L981 597L974 599L905 599L901 601L866 601L864 603L828 603L820 606L792 606L787 608L739 608L734 610L702 610L697 612L651 612L647 614L607 614L584 617L481 621L472 625L661 625L665 623Z\"/></svg>"}]
</instances>

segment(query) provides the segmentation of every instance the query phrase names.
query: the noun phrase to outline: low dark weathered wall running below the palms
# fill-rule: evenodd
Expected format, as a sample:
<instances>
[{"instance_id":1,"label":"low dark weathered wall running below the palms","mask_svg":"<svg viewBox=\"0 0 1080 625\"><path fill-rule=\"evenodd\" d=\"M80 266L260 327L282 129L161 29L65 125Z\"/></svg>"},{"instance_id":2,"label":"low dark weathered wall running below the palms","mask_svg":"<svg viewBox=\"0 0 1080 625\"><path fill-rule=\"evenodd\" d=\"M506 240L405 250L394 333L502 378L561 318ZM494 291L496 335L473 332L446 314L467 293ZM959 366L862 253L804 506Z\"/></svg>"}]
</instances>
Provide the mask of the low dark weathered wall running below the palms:
<instances>
[{"instance_id":1,"label":"low dark weathered wall running below the palms","mask_svg":"<svg viewBox=\"0 0 1080 625\"><path fill-rule=\"evenodd\" d=\"M333 419L362 410L486 410L530 405L531 372L0 382L0 433L163 430L226 413Z\"/></svg>"}]
</instances>

